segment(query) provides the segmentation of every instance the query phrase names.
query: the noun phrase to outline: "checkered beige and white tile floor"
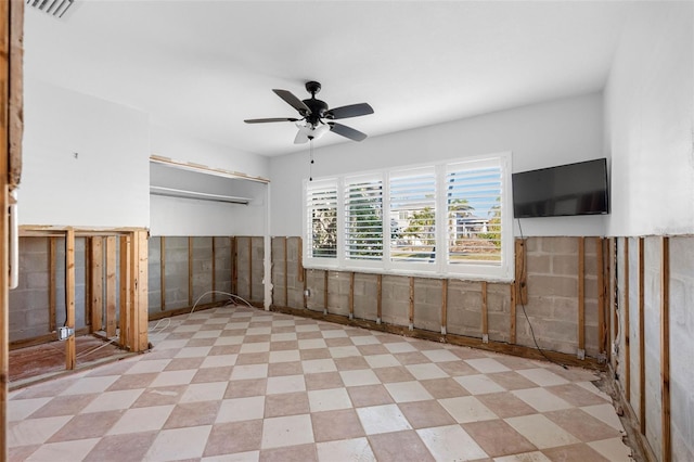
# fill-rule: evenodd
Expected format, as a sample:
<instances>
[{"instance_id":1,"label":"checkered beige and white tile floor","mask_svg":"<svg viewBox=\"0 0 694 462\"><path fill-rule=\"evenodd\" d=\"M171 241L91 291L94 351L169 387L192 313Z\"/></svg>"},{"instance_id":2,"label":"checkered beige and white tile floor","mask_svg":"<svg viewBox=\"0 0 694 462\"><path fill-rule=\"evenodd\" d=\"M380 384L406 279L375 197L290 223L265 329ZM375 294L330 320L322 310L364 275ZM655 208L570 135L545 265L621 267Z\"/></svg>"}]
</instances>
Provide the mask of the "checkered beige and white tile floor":
<instances>
[{"instance_id":1,"label":"checkered beige and white tile floor","mask_svg":"<svg viewBox=\"0 0 694 462\"><path fill-rule=\"evenodd\" d=\"M630 460L580 369L239 306L151 342L11 393L10 459Z\"/></svg>"}]
</instances>

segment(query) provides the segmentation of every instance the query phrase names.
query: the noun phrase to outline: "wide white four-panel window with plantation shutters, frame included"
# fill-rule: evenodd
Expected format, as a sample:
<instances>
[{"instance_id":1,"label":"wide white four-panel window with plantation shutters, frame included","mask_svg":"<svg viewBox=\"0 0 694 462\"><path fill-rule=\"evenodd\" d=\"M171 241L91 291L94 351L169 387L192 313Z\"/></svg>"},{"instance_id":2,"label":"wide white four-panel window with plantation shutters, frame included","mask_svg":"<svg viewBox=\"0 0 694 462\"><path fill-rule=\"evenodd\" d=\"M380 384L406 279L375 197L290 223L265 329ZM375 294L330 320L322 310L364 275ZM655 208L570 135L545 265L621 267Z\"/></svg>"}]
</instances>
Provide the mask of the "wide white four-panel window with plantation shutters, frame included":
<instances>
[{"instance_id":1,"label":"wide white four-panel window with plantation shutters, frame included","mask_svg":"<svg viewBox=\"0 0 694 462\"><path fill-rule=\"evenodd\" d=\"M511 155L305 182L307 268L513 280Z\"/></svg>"}]
</instances>

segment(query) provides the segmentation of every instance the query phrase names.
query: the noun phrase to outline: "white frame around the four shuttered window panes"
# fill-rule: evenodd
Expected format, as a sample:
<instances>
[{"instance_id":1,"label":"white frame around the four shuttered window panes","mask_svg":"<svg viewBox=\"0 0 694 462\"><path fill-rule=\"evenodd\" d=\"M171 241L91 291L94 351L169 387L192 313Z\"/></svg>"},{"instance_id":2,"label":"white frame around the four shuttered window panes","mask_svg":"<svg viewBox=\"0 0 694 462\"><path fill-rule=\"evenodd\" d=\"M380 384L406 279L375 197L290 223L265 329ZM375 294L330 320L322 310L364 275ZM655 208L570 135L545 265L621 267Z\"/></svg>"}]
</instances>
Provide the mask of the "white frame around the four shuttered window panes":
<instances>
[{"instance_id":1,"label":"white frame around the four shuttered window panes","mask_svg":"<svg viewBox=\"0 0 694 462\"><path fill-rule=\"evenodd\" d=\"M485 262L470 261L465 264L450 264L448 261L448 203L446 194L447 166L453 164L470 165L471 168L485 166L498 166L501 169L501 261ZM514 280L514 245L513 245L513 203L512 203L512 155L510 152L491 154L477 157L462 157L447 161L438 161L427 164L398 166L389 169L354 172L343 176L333 176L324 179L304 180L304 266L312 269L345 270L359 272L375 272L384 274L419 275L425 278L455 278L464 280L479 280L492 282L511 282ZM390 258L390 223L396 220L390 210L390 175L409 169L432 168L435 169L435 197L436 197L436 258L433 262L393 261ZM348 181L355 179L381 179L383 181L383 257L381 260L347 258L346 254L346 204L345 187ZM337 254L334 258L312 257L312 232L310 217L308 215L307 198L311 183L325 184L334 182L337 188ZM442 224L441 224L442 223ZM308 239L307 239L308 238Z\"/></svg>"}]
</instances>

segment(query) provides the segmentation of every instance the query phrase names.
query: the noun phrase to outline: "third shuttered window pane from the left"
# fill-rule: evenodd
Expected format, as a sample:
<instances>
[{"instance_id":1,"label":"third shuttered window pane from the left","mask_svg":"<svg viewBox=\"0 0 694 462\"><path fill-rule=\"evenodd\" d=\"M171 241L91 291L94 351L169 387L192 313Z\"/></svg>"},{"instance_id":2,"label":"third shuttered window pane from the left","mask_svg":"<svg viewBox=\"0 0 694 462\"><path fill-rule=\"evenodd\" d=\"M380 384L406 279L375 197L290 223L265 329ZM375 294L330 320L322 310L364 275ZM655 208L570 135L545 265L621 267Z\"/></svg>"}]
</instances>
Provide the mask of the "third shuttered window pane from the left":
<instances>
[{"instance_id":1,"label":"third shuttered window pane from the left","mask_svg":"<svg viewBox=\"0 0 694 462\"><path fill-rule=\"evenodd\" d=\"M436 176L434 168L390 176L390 258L434 262L436 259Z\"/></svg>"}]
</instances>

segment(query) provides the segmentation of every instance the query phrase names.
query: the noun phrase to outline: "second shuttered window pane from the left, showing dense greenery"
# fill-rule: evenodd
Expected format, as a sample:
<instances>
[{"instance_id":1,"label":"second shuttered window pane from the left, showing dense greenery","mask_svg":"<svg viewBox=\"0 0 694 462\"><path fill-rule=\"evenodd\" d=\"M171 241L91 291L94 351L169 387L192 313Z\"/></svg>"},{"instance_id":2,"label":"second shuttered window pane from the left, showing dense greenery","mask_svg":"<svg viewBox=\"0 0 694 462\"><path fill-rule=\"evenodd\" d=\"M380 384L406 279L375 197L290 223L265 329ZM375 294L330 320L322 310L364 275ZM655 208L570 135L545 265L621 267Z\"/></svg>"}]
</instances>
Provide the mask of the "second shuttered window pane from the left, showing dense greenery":
<instances>
[{"instance_id":1,"label":"second shuttered window pane from the left, showing dense greenery","mask_svg":"<svg viewBox=\"0 0 694 462\"><path fill-rule=\"evenodd\" d=\"M346 180L345 252L348 259L383 257L383 182L380 179Z\"/></svg>"}]
</instances>

